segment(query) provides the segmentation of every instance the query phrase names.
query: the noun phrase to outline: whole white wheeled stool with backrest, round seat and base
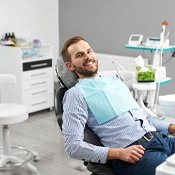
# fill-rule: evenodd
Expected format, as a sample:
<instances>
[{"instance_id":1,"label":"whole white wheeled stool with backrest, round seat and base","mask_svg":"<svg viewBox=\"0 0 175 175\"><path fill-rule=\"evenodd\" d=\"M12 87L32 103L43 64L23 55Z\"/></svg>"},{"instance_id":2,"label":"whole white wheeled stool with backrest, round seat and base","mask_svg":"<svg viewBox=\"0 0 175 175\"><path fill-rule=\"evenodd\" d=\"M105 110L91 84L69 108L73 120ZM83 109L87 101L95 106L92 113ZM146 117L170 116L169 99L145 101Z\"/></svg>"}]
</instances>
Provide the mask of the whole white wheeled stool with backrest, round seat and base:
<instances>
[{"instance_id":1,"label":"whole white wheeled stool with backrest, round seat and base","mask_svg":"<svg viewBox=\"0 0 175 175\"><path fill-rule=\"evenodd\" d=\"M10 74L0 74L0 85L14 85L16 78ZM2 126L2 148L0 150L0 170L14 166L38 173L36 167L28 161L32 158L38 159L36 152L30 152L23 147L11 147L10 124L16 124L28 119L27 107L22 104L0 103L0 125ZM23 153L23 154L22 154ZM23 157L22 157L23 155ZM22 158L21 158L22 157ZM25 157L25 160L23 159Z\"/></svg>"}]
</instances>

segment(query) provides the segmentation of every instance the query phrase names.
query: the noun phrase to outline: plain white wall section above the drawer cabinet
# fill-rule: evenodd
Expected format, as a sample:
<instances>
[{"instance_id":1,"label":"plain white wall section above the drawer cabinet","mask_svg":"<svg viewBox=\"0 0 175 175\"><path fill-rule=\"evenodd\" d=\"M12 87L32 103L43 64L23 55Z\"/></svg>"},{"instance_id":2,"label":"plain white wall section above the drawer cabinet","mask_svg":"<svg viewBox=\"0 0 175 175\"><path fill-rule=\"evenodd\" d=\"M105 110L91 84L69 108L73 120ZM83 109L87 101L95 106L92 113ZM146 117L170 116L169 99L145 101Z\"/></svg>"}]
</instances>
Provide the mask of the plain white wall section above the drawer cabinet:
<instances>
[{"instance_id":1,"label":"plain white wall section above the drawer cabinet","mask_svg":"<svg viewBox=\"0 0 175 175\"><path fill-rule=\"evenodd\" d=\"M0 0L0 38L6 32L51 44L55 63L59 55L59 0Z\"/></svg>"}]
</instances>

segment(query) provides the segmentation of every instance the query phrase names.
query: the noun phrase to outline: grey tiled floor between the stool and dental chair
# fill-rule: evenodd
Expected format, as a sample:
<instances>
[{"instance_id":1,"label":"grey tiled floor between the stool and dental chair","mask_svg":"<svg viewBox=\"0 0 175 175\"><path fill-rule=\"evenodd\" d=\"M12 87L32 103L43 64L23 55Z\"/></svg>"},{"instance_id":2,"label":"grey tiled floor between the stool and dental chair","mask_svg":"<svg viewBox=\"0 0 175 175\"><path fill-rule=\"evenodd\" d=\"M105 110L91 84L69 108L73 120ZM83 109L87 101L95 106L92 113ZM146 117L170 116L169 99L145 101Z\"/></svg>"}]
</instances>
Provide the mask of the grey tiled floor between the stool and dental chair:
<instances>
[{"instance_id":1,"label":"grey tiled floor between the stool and dental chair","mask_svg":"<svg viewBox=\"0 0 175 175\"><path fill-rule=\"evenodd\" d=\"M0 134L2 135L2 130ZM69 158L65 153L63 136L54 111L33 113L28 120L10 125L10 137L13 146L22 146L39 153L39 161L30 163L37 167L40 173L31 173L15 167L0 170L0 175L90 175L88 170L80 171L82 161Z\"/></svg>"}]
</instances>

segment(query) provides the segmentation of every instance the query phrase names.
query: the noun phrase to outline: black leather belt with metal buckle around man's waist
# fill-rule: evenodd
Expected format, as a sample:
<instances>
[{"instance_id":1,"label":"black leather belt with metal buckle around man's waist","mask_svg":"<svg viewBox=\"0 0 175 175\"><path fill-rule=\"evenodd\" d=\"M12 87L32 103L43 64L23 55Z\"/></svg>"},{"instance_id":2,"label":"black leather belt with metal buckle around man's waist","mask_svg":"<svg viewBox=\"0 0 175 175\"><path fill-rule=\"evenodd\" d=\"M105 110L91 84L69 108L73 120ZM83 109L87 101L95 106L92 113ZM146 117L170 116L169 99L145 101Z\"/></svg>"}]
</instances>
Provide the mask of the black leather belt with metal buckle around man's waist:
<instances>
[{"instance_id":1,"label":"black leather belt with metal buckle around man's waist","mask_svg":"<svg viewBox=\"0 0 175 175\"><path fill-rule=\"evenodd\" d=\"M157 135L157 133L155 131L150 131L147 132L143 137L141 137L139 140L131 143L129 146L131 145L138 145L144 142L149 142L151 141L155 136Z\"/></svg>"}]
</instances>

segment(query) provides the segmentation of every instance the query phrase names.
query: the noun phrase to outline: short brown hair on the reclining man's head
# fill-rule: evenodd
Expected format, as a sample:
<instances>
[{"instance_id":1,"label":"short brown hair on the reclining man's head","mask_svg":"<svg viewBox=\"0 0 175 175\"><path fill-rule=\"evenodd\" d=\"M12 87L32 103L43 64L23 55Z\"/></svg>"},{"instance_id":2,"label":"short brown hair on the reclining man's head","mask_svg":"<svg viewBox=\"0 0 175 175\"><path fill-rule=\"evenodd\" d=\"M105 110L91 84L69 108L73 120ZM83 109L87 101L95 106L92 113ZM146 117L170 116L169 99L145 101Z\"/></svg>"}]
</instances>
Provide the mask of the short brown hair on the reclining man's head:
<instances>
[{"instance_id":1,"label":"short brown hair on the reclining man's head","mask_svg":"<svg viewBox=\"0 0 175 175\"><path fill-rule=\"evenodd\" d=\"M70 56L70 54L69 54L69 52L68 52L68 48L69 48L72 44L75 44L75 43L77 43L78 41L81 41L81 40L86 41L86 40L85 40L84 38L82 38L81 36L75 36L75 37L73 37L73 38L68 39L68 40L65 42L65 44L64 44L64 46L63 46L63 49L62 49L62 51L61 51L61 56L62 56L64 62L71 62L71 56ZM86 42L87 42L87 41L86 41Z\"/></svg>"}]
</instances>

